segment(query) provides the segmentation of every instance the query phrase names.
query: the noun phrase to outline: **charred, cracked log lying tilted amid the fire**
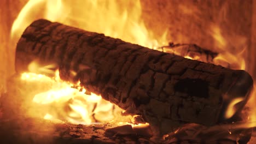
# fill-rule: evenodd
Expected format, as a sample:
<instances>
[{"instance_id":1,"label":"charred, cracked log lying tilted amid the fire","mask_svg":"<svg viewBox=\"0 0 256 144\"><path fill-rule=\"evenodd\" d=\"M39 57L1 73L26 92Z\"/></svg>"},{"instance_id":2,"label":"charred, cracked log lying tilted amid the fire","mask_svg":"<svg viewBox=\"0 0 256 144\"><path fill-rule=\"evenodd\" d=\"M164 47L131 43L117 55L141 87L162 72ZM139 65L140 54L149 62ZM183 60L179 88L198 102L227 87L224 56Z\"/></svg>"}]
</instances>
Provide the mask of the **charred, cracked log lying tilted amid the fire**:
<instances>
[{"instance_id":1,"label":"charred, cracked log lying tilted amid the fire","mask_svg":"<svg viewBox=\"0 0 256 144\"><path fill-rule=\"evenodd\" d=\"M213 125L239 112L253 86L243 70L147 49L47 20L27 27L16 48L18 73L57 64L60 77L141 115L167 133L184 123ZM237 99L239 99L237 101ZM235 100L235 103L234 103ZM226 115L231 106L233 110ZM226 115L226 117L225 117Z\"/></svg>"}]
</instances>

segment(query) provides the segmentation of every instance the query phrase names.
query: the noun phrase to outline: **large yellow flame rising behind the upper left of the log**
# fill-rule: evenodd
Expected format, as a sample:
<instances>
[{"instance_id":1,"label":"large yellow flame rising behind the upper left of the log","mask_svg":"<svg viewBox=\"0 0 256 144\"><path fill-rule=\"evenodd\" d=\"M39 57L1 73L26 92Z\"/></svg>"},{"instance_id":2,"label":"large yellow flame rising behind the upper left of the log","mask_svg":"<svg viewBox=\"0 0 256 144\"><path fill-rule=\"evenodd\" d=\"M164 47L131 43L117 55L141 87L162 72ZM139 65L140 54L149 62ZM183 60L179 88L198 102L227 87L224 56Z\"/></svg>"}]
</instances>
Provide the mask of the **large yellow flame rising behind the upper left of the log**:
<instances>
[{"instance_id":1,"label":"large yellow flame rising behind the upper left of the log","mask_svg":"<svg viewBox=\"0 0 256 144\"><path fill-rule=\"evenodd\" d=\"M104 33L107 36L152 49L166 45L167 33L163 32L156 37L144 25L141 13L139 0L30 0L14 21L11 37L19 38L30 23L44 18L86 29L86 31Z\"/></svg>"}]
</instances>

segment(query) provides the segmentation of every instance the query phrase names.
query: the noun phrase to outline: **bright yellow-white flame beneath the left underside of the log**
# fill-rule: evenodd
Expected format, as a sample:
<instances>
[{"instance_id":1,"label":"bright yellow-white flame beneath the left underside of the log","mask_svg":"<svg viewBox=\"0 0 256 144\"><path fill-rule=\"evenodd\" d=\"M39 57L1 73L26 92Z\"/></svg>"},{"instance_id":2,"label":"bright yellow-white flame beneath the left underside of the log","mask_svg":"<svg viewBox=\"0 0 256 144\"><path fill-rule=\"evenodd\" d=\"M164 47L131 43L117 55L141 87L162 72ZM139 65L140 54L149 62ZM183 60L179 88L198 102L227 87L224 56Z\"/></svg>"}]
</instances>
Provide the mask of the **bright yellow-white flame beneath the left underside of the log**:
<instances>
[{"instance_id":1,"label":"bright yellow-white flame beneath the left underside of the log","mask_svg":"<svg viewBox=\"0 0 256 144\"><path fill-rule=\"evenodd\" d=\"M43 105L44 119L54 122L68 122L73 124L89 124L95 122L108 122L118 118L117 113L121 109L114 104L103 100L100 95L94 93L85 94L86 89L64 82L56 70L55 77L51 78L42 74L23 73L21 79L24 81L44 82L48 91L34 95L33 103ZM44 89L44 88L42 88Z\"/></svg>"}]
</instances>

